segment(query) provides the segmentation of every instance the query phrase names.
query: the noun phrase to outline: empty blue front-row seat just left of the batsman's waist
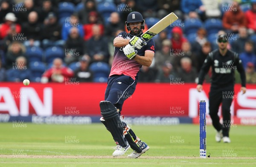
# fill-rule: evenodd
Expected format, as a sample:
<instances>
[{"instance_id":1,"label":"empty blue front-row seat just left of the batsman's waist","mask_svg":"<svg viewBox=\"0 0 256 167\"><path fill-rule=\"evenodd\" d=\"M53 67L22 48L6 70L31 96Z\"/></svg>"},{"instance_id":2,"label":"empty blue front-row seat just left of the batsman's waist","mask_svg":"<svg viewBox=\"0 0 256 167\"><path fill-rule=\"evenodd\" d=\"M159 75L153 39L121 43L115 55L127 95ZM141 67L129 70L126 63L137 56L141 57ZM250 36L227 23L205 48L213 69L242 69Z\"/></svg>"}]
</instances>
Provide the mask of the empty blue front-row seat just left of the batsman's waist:
<instances>
[{"instance_id":1,"label":"empty blue front-row seat just left of the batsman's waist","mask_svg":"<svg viewBox=\"0 0 256 167\"><path fill-rule=\"evenodd\" d=\"M110 72L110 67L108 66L108 63L94 62L89 66L89 68L93 72L93 80L97 80L98 82L108 80L108 75ZM104 78L104 80L99 78Z\"/></svg>"}]
</instances>

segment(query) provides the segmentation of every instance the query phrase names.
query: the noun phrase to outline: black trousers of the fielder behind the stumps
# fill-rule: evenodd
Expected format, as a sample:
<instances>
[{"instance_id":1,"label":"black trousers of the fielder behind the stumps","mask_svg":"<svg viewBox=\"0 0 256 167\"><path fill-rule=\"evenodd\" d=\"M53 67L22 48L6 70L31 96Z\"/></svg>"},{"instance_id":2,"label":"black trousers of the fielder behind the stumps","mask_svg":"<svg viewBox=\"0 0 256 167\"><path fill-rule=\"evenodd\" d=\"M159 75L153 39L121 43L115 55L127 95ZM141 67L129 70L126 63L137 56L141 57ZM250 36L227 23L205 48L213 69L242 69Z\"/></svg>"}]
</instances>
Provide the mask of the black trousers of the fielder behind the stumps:
<instances>
[{"instance_id":1,"label":"black trousers of the fielder behind the stumps","mask_svg":"<svg viewBox=\"0 0 256 167\"><path fill-rule=\"evenodd\" d=\"M231 115L230 106L234 98L234 86L211 86L209 92L209 115L212 118L213 127L220 131L223 136L229 137ZM220 123L218 108L220 104L222 111L223 124Z\"/></svg>"}]
</instances>

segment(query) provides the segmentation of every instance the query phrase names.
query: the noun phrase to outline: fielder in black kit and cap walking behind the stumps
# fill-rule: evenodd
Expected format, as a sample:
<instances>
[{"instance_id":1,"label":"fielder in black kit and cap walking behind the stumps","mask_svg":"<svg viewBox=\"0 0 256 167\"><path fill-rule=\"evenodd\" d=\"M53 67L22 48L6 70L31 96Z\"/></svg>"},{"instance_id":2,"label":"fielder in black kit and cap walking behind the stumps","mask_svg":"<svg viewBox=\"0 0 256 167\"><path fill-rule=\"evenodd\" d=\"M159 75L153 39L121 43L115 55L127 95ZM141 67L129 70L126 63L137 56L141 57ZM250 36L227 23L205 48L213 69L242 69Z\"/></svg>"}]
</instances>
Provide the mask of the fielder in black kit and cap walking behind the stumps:
<instances>
[{"instance_id":1,"label":"fielder in black kit and cap walking behind the stumps","mask_svg":"<svg viewBox=\"0 0 256 167\"><path fill-rule=\"evenodd\" d=\"M245 72L239 55L227 49L228 37L225 34L219 35L218 49L209 53L199 72L199 81L197 85L198 92L203 89L204 77L212 66L212 81L209 92L209 115L212 119L212 125L217 130L215 140L217 142L223 139L224 143L230 143L230 106L234 97L234 73L237 69L241 77L241 91L244 94L245 88ZM218 116L218 108L222 103L223 124L220 123Z\"/></svg>"}]
</instances>

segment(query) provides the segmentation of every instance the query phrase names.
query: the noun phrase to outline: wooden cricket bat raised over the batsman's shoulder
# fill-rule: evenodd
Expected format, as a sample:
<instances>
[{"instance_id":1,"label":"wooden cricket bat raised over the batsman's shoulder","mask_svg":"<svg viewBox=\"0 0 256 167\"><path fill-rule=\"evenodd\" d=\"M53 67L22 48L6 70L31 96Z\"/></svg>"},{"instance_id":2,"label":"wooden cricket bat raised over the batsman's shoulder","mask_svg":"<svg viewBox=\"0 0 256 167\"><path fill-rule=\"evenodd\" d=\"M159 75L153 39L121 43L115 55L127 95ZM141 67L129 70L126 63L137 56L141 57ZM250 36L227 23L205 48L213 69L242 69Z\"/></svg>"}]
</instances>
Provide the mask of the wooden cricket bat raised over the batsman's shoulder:
<instances>
[{"instance_id":1,"label":"wooden cricket bat raised over the batsman's shoulder","mask_svg":"<svg viewBox=\"0 0 256 167\"><path fill-rule=\"evenodd\" d=\"M152 26L150 29L148 29L148 31L146 31L145 33L143 33L143 35L141 35L140 37L145 40L145 42L147 42L148 40L150 40L152 37L154 37L155 35L157 35L159 32L161 32L163 29L165 29L167 26L169 26L170 24L172 24L173 22L175 22L178 19L178 17L176 16L176 14L174 14L173 12L168 14L166 17L163 17L160 21L158 21L157 23L155 23L154 26Z\"/></svg>"}]
</instances>

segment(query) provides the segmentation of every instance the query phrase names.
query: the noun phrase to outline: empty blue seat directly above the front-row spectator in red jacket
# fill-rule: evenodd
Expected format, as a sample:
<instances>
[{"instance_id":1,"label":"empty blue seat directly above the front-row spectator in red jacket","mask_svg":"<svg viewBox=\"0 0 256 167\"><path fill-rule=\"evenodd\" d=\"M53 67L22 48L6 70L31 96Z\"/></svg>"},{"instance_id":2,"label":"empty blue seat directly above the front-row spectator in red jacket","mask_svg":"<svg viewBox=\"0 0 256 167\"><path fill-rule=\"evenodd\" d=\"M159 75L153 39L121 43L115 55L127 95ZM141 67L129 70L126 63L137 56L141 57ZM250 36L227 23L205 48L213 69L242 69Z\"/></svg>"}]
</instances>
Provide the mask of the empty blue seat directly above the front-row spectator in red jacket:
<instances>
[{"instance_id":1,"label":"empty blue seat directly above the front-row spectator in red jacket","mask_svg":"<svg viewBox=\"0 0 256 167\"><path fill-rule=\"evenodd\" d=\"M45 50L44 56L47 63L51 63L55 58L64 58L64 51L61 47L49 47Z\"/></svg>"}]
</instances>

